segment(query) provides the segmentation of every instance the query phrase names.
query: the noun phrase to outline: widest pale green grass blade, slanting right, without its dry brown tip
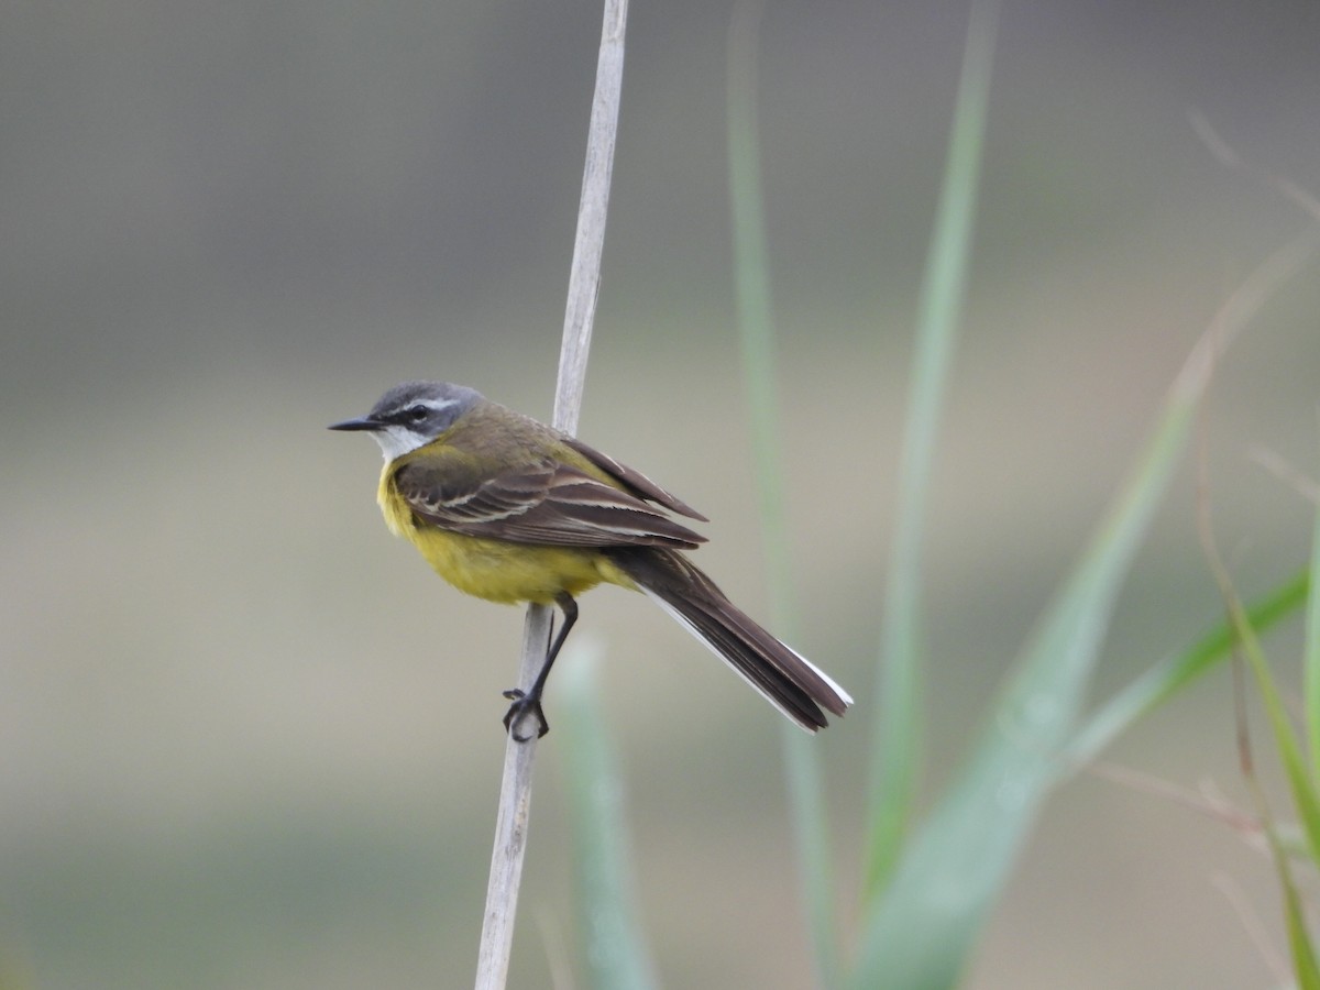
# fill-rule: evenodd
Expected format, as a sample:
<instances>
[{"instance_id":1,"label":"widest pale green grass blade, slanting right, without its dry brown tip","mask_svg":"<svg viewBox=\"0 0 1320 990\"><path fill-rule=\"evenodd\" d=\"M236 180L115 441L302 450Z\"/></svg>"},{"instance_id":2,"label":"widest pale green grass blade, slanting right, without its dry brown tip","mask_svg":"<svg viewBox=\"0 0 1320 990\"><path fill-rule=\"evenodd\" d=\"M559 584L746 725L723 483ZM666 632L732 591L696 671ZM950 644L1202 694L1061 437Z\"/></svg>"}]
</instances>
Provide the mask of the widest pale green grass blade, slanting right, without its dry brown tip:
<instances>
[{"instance_id":1,"label":"widest pale green grass blade, slanting right, without its dry brown tip","mask_svg":"<svg viewBox=\"0 0 1320 990\"><path fill-rule=\"evenodd\" d=\"M1114 599L1191 432L1206 342L1076 572L1047 610L970 762L866 919L858 987L953 986L1026 841L1100 653Z\"/></svg>"}]
</instances>

